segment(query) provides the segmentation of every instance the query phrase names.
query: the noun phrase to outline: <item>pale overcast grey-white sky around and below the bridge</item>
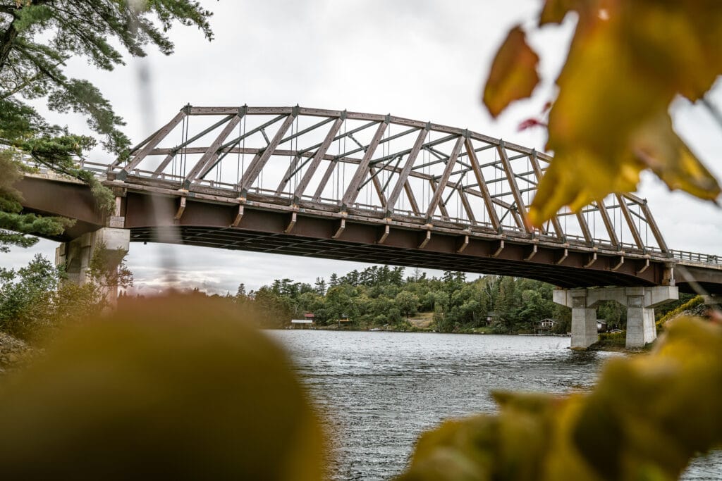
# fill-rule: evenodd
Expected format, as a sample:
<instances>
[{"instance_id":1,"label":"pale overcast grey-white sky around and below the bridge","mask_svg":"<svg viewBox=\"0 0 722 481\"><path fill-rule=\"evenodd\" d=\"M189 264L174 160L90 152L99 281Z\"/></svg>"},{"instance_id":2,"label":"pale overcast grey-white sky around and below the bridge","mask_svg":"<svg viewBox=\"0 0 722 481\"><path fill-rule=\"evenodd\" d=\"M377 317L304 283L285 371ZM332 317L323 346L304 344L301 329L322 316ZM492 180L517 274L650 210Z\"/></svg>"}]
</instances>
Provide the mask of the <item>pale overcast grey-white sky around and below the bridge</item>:
<instances>
[{"instance_id":1,"label":"pale overcast grey-white sky around and below the bridge","mask_svg":"<svg viewBox=\"0 0 722 481\"><path fill-rule=\"evenodd\" d=\"M71 76L90 79L126 120L134 142L168 122L183 105L290 106L391 113L453 125L544 149L546 133L519 132L518 123L539 114L554 96L573 31L545 27L530 42L541 53L541 84L529 100L516 102L493 120L480 102L483 81L495 52L514 25L533 27L539 0L203 0L214 12L215 38L177 25L168 32L175 53L149 48L144 59L97 71L73 58ZM147 81L141 79L147 76ZM708 96L722 107L722 81ZM42 103L35 104L43 110ZM707 110L677 100L674 127L695 154L722 178L722 128ZM49 113L71 131L83 132L77 115ZM111 154L93 151L94 162ZM647 198L667 244L673 249L722 254L722 211L684 193L670 193L644 175L639 195ZM57 244L41 240L27 250L0 255L0 265L19 268L36 253L54 258ZM175 257L173 272L161 270L163 255ZM127 257L135 290L198 287L234 293L239 283L256 289L276 278L313 283L365 268L355 262L318 260L169 244L131 244ZM407 270L410 274L410 270ZM437 274L431 271L431 274ZM471 277L471 276L470 276Z\"/></svg>"}]
</instances>

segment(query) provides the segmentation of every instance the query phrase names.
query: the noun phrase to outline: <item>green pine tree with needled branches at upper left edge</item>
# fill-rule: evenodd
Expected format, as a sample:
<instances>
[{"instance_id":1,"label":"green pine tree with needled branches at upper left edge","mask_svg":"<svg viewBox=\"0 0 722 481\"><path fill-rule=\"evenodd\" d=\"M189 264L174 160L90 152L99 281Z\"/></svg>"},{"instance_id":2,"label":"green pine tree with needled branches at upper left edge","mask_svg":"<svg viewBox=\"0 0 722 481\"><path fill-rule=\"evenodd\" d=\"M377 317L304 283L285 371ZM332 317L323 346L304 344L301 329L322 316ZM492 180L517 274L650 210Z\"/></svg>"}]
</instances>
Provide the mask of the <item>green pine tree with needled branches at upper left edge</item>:
<instances>
[{"instance_id":1,"label":"green pine tree with needled branches at upper left edge","mask_svg":"<svg viewBox=\"0 0 722 481\"><path fill-rule=\"evenodd\" d=\"M95 86L64 74L65 62L84 56L97 69L122 65L125 51L145 56L147 45L173 53L165 32L175 22L196 25L209 40L211 12L193 0L0 0L0 249L27 247L27 234L57 235L68 226L61 219L40 219L19 213L12 181L19 177L20 160L87 182L102 211L113 208L113 194L76 160L95 145L95 138L75 135L47 123L24 100L45 97L56 112L78 112L101 136L106 151L126 156L129 138L123 120ZM120 50L116 48L119 46Z\"/></svg>"}]
</instances>

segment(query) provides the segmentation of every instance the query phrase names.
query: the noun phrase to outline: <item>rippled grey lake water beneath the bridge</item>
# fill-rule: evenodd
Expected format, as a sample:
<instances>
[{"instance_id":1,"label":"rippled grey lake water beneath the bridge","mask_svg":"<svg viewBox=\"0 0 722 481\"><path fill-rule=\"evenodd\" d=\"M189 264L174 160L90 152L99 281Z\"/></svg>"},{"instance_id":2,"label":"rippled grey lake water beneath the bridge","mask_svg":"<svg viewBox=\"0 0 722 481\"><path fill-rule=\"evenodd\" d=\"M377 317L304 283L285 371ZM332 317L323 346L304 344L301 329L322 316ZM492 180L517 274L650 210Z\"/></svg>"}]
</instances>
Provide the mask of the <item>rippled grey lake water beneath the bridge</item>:
<instances>
[{"instance_id":1,"label":"rippled grey lake water beneath the bridge","mask_svg":"<svg viewBox=\"0 0 722 481\"><path fill-rule=\"evenodd\" d=\"M388 480L422 431L494 412L498 389L591 389L617 353L568 349L569 337L405 332L272 331L291 353L331 435L332 480ZM684 480L722 480L722 454L697 459Z\"/></svg>"}]
</instances>

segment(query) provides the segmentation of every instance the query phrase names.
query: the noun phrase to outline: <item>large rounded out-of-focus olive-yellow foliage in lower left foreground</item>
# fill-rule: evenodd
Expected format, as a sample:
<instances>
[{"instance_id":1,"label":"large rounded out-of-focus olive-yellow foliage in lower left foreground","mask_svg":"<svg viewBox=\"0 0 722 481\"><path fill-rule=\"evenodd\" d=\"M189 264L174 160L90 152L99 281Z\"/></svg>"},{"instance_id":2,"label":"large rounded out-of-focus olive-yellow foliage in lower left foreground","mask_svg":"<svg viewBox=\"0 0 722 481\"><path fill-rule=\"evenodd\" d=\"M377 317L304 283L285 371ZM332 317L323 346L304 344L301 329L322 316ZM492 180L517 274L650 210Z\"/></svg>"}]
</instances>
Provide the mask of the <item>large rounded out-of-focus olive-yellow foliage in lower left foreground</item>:
<instances>
[{"instance_id":1,"label":"large rounded out-of-focus olive-yellow foliage in lower left foreground","mask_svg":"<svg viewBox=\"0 0 722 481\"><path fill-rule=\"evenodd\" d=\"M282 350L222 303L128 301L0 389L9 480L320 480L323 436Z\"/></svg>"}]
</instances>

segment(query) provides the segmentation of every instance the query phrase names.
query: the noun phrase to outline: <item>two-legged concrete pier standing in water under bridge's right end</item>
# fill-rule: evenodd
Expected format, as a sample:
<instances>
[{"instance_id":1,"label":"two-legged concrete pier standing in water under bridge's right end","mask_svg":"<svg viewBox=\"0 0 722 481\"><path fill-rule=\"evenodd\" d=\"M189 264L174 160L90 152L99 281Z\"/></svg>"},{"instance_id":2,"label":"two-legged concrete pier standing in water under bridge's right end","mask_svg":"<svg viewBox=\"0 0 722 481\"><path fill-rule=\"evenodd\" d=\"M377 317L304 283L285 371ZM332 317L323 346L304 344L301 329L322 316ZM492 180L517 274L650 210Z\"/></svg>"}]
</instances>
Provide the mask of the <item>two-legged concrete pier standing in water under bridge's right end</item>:
<instances>
[{"instance_id":1,"label":"two-legged concrete pier standing in water under bridge's right end","mask_svg":"<svg viewBox=\"0 0 722 481\"><path fill-rule=\"evenodd\" d=\"M596 306L617 301L627 307L627 349L643 348L657 337L654 308L679 299L674 286L600 287L554 291L554 302L572 308L572 348L586 349L595 343Z\"/></svg>"}]
</instances>

